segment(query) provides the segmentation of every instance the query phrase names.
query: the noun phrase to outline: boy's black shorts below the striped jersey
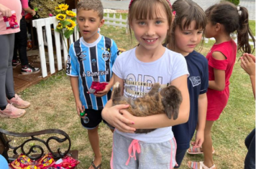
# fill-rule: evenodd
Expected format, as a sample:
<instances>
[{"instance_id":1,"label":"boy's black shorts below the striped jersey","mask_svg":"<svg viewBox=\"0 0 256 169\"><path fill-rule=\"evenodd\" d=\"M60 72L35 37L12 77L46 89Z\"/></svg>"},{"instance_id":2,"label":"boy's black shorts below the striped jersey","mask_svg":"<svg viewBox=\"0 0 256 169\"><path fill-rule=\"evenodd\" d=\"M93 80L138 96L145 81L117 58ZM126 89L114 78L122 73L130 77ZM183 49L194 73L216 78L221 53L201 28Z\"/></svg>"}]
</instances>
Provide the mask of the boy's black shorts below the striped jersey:
<instances>
[{"instance_id":1,"label":"boy's black shorts below the striped jersey","mask_svg":"<svg viewBox=\"0 0 256 169\"><path fill-rule=\"evenodd\" d=\"M81 124L88 130L92 130L93 128L97 127L99 123L103 120L101 117L102 110L93 110L93 109L86 109L86 116L81 118ZM109 128L114 130L114 127L109 125L105 120L103 122L108 125Z\"/></svg>"}]
</instances>

